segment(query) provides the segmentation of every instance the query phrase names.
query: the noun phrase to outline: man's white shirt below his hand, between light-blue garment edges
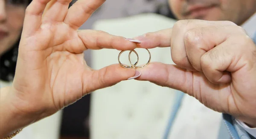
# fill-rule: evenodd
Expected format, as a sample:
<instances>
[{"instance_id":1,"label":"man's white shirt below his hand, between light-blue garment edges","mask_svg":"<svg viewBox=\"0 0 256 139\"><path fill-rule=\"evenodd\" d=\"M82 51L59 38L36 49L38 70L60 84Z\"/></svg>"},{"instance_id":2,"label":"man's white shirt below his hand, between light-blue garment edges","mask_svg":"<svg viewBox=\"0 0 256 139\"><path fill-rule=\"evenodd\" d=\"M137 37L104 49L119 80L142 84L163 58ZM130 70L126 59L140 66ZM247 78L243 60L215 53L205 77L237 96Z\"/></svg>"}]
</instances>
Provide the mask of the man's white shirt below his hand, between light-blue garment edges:
<instances>
[{"instance_id":1,"label":"man's white shirt below his hand, between light-blue garment edges","mask_svg":"<svg viewBox=\"0 0 256 139\"><path fill-rule=\"evenodd\" d=\"M222 114L185 95L169 139L217 139Z\"/></svg>"}]
</instances>

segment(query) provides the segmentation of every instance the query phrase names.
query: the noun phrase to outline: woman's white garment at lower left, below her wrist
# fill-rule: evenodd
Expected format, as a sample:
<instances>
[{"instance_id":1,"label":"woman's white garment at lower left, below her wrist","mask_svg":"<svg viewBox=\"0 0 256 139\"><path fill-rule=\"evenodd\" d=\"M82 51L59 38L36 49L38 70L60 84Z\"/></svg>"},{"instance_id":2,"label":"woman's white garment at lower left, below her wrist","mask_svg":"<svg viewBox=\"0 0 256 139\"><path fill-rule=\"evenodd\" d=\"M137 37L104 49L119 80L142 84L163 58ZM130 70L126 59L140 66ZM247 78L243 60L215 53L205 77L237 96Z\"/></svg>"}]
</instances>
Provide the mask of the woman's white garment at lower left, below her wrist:
<instances>
[{"instance_id":1,"label":"woman's white garment at lower left, below her wrist","mask_svg":"<svg viewBox=\"0 0 256 139\"><path fill-rule=\"evenodd\" d=\"M11 85L0 81L0 88ZM62 111L25 127L12 139L59 139Z\"/></svg>"}]
</instances>

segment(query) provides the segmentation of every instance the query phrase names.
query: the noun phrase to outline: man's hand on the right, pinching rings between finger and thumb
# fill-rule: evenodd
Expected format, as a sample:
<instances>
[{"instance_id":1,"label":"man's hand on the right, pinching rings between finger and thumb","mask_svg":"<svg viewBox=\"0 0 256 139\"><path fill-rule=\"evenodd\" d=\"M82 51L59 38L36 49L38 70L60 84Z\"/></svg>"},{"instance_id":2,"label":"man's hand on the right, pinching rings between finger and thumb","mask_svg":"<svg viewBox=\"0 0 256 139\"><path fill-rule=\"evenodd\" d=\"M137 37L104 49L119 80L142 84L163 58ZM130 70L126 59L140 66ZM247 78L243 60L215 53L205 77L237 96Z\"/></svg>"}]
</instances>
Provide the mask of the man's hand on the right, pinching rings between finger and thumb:
<instances>
[{"instance_id":1,"label":"man's hand on the right, pinching rings between finger and thumb","mask_svg":"<svg viewBox=\"0 0 256 139\"><path fill-rule=\"evenodd\" d=\"M136 37L140 48L171 47L176 65L152 62L138 80L174 88L256 127L256 46L229 21L180 20ZM168 57L166 57L168 58Z\"/></svg>"}]
</instances>

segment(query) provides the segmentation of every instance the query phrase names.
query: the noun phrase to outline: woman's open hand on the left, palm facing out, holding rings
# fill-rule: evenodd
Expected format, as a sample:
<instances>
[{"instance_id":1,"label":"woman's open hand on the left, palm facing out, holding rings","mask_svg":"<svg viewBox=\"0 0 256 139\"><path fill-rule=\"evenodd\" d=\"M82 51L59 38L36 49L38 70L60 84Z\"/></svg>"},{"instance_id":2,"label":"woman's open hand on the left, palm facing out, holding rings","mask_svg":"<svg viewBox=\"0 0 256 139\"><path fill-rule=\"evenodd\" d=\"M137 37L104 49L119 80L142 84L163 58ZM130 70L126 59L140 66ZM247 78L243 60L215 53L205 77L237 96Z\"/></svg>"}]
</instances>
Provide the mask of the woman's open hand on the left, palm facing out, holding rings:
<instances>
[{"instance_id":1,"label":"woman's open hand on the left, palm facing out, holding rings","mask_svg":"<svg viewBox=\"0 0 256 139\"><path fill-rule=\"evenodd\" d=\"M118 64L95 71L84 60L83 51L89 48L136 47L123 37L102 31L77 31L104 0L80 0L66 11L58 7L61 1L51 2L42 17L42 11L33 7L40 3L37 0L27 10L14 80L18 98L15 105L22 105L22 111L38 113L46 109L52 114L91 91L114 85L135 73ZM87 9L77 10L81 5ZM64 7L67 6L68 3ZM80 16L74 17L77 14ZM38 25L31 26L30 22Z\"/></svg>"}]
</instances>

